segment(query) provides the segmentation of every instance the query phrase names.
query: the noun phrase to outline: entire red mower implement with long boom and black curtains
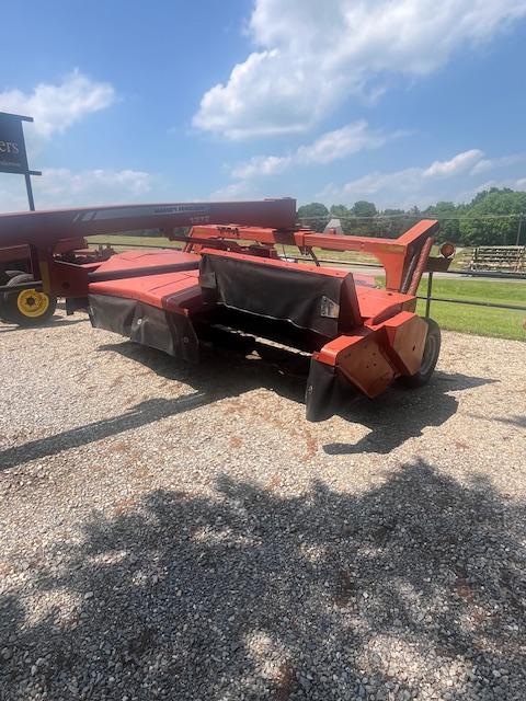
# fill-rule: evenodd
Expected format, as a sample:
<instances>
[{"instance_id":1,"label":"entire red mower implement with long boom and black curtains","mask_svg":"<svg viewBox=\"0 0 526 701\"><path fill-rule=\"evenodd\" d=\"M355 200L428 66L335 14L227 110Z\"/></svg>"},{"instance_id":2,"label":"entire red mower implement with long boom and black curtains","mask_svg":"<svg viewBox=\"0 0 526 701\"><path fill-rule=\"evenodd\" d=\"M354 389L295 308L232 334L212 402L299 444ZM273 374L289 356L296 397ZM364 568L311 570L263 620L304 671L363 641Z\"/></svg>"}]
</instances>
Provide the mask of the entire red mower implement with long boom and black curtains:
<instances>
[{"instance_id":1,"label":"entire red mower implement with long boom and black curtains","mask_svg":"<svg viewBox=\"0 0 526 701\"><path fill-rule=\"evenodd\" d=\"M415 295L425 269L448 264L430 258L438 222L420 221L398 239L380 239L316 233L296 221L294 199L0 215L0 248L27 245L33 274L33 280L1 286L0 295L66 297L68 309L88 310L93 326L188 361L198 359L214 330L309 353L311 421L331 416L356 391L374 398L398 378L425 383L441 334L415 313ZM178 227L192 228L176 235ZM142 229L159 229L183 245L107 260L56 253L64 240ZM279 256L284 245L312 263ZM320 265L319 249L371 254L385 268L386 287Z\"/></svg>"}]
</instances>

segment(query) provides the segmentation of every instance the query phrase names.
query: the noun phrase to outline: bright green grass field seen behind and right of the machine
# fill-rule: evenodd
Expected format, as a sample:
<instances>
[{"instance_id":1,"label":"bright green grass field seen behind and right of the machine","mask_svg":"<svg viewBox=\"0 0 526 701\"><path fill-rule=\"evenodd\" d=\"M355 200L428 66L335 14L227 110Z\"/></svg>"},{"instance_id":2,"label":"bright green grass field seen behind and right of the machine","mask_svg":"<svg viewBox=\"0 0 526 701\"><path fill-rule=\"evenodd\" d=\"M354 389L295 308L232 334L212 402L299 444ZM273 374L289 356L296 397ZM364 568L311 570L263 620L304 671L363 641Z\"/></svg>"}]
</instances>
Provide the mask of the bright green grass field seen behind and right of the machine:
<instances>
[{"instance_id":1,"label":"bright green grass field seen behind and right of the machine","mask_svg":"<svg viewBox=\"0 0 526 701\"><path fill-rule=\"evenodd\" d=\"M91 237L90 243L111 242L114 246L133 248L134 245L180 246L181 243L170 242L163 237ZM286 255L296 255L297 250L285 246ZM319 252L321 257L334 261L370 262L374 258L361 254ZM382 278L378 277L378 283ZM419 295L426 294L427 281L424 279L420 286ZM451 299L466 299L474 301L488 301L494 303L516 304L526 307L526 281L490 281L470 278L435 278L433 280L433 297L449 297ZM419 312L424 313L425 302L419 302ZM525 311L512 311L506 309L487 309L468 304L454 304L446 302L432 302L431 315L443 329L473 333L483 336L498 336L501 338L515 338L526 341Z\"/></svg>"}]
</instances>

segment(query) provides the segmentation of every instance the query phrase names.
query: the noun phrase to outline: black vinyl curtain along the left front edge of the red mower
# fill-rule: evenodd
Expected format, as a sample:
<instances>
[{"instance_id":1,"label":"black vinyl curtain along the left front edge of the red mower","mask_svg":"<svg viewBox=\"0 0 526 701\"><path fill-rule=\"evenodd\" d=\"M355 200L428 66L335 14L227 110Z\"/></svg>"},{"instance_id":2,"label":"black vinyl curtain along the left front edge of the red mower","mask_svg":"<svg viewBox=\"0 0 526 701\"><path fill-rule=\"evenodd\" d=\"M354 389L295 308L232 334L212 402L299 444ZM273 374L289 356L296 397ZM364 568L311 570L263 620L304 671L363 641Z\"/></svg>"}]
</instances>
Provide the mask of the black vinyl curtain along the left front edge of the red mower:
<instances>
[{"instance_id":1,"label":"black vinyl curtain along the left front edge of the red mower","mask_svg":"<svg viewBox=\"0 0 526 701\"><path fill-rule=\"evenodd\" d=\"M88 301L94 327L113 331L183 360L198 360L199 344L187 317L110 295L89 295Z\"/></svg>"}]
</instances>

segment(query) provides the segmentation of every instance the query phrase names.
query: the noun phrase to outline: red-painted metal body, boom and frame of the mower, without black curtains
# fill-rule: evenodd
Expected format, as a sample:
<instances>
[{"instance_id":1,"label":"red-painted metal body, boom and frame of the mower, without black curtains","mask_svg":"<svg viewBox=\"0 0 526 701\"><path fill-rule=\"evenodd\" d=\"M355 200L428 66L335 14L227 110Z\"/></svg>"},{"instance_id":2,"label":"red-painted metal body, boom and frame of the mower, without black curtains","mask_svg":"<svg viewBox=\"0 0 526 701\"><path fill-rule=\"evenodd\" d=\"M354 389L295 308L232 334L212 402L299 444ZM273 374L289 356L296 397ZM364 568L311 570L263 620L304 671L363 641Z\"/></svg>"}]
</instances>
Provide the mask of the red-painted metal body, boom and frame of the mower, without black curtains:
<instances>
[{"instance_id":1,"label":"red-painted metal body, boom and frame of the mower, without black curtains","mask_svg":"<svg viewBox=\"0 0 526 701\"><path fill-rule=\"evenodd\" d=\"M174 232L182 226L193 226L187 237ZM64 239L151 228L161 229L172 240L183 241L183 251L146 252L127 257L119 254L107 263L80 265L54 256L57 242ZM55 296L116 296L190 320L194 313L202 312L195 268L199 261L205 261L204 256L237 261L240 273L236 285L241 291L247 286L248 297L259 294L256 288L249 289L250 280L256 279L258 271L264 266L283 271L283 275L294 269L300 275L313 276L312 279L317 275L325 276L333 280L331 285L334 279L345 280L345 295L352 289L353 313L351 315L347 302L340 307L338 300L330 300L339 314L341 335L325 338L327 342L318 346L312 355L313 364L345 378L366 395L376 397L396 377L414 375L420 368L427 324L414 313L415 292L437 228L437 221L423 220L395 240L342 237L297 228L294 199L180 203L0 215L0 246L27 244L35 278L42 280L45 291ZM313 249L368 253L384 266L386 288L363 285L341 269L279 258L281 244L294 245L304 254L313 254ZM313 263L317 263L316 255ZM289 295L294 300L294 287Z\"/></svg>"}]
</instances>

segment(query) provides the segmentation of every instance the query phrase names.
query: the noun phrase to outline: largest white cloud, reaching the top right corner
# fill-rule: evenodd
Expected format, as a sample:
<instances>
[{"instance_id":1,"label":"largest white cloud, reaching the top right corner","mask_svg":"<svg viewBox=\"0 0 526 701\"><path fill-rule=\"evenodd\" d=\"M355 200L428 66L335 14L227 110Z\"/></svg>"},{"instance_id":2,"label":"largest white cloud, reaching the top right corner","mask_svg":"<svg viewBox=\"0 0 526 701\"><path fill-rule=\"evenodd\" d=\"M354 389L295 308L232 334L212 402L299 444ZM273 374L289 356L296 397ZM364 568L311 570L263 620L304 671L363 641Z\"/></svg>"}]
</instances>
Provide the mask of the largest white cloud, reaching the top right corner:
<instances>
[{"instance_id":1,"label":"largest white cloud, reaching the top right corner","mask_svg":"<svg viewBox=\"0 0 526 701\"><path fill-rule=\"evenodd\" d=\"M258 50L208 90L194 126L239 139L305 131L389 76L425 76L526 14L526 0L255 0Z\"/></svg>"}]
</instances>

